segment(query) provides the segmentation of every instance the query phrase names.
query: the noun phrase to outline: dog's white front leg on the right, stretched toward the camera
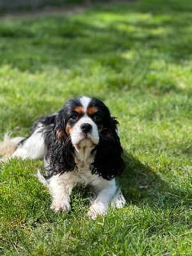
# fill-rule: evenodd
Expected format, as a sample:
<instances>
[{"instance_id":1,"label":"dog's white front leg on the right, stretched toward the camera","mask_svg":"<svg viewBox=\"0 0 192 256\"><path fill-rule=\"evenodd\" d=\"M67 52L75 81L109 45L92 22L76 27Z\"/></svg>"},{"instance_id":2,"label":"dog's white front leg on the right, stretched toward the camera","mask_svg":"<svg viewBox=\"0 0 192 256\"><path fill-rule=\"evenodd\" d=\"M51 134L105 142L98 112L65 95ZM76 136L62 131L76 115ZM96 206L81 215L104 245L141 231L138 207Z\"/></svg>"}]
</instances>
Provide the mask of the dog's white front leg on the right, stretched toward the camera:
<instances>
[{"instance_id":1,"label":"dog's white front leg on the right, stretched toward the camera","mask_svg":"<svg viewBox=\"0 0 192 256\"><path fill-rule=\"evenodd\" d=\"M88 215L95 220L98 215L106 214L108 211L109 203L115 196L117 191L115 179L113 180L104 180L101 177L101 182L96 186L93 186L95 189L95 200L93 204L90 206L90 211L88 211Z\"/></svg>"}]
</instances>

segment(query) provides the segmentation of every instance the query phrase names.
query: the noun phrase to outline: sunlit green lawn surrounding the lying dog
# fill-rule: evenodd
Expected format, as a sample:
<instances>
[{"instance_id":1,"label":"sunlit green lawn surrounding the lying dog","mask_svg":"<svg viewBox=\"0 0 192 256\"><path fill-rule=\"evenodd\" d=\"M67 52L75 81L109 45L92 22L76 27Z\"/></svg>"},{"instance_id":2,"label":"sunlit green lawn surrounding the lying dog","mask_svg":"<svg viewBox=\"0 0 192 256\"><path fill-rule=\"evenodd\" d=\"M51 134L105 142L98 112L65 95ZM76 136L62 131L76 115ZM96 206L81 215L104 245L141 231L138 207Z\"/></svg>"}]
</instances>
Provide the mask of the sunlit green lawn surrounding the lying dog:
<instances>
[{"instance_id":1,"label":"sunlit green lawn surrounding the lying dog","mask_svg":"<svg viewBox=\"0 0 192 256\"><path fill-rule=\"evenodd\" d=\"M78 187L56 214L40 161L1 164L1 255L191 255L191 14L190 0L138 0L1 21L0 137L98 97L120 122L127 200L92 221Z\"/></svg>"}]
</instances>

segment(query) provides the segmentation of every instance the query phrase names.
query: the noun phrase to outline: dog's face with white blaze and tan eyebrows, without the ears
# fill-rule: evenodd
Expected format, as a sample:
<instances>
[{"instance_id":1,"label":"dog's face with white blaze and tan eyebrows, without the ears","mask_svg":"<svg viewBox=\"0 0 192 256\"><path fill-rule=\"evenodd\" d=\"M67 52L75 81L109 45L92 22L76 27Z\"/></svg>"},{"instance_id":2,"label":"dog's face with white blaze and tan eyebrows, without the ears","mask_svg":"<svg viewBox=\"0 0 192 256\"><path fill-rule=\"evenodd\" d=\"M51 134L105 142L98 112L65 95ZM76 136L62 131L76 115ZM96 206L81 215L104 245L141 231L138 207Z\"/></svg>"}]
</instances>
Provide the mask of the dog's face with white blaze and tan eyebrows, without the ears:
<instances>
[{"instance_id":1,"label":"dog's face with white blaze and tan eyebrows, without the ears","mask_svg":"<svg viewBox=\"0 0 192 256\"><path fill-rule=\"evenodd\" d=\"M109 110L98 99L79 97L69 100L59 115L63 119L63 128L57 131L58 138L70 136L72 145L78 150L86 145L94 148L99 143Z\"/></svg>"}]
</instances>

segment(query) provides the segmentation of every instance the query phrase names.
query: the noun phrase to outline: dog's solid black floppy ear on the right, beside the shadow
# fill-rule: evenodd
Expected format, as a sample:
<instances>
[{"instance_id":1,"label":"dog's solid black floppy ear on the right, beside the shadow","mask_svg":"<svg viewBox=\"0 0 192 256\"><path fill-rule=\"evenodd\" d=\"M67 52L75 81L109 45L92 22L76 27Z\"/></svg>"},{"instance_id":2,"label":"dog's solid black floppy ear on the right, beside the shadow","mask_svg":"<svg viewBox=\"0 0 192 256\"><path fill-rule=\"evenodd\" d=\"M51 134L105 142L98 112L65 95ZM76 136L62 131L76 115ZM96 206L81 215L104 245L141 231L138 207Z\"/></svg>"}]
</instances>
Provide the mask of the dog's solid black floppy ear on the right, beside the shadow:
<instances>
[{"instance_id":1,"label":"dog's solid black floppy ear on the right, beside the shadow","mask_svg":"<svg viewBox=\"0 0 192 256\"><path fill-rule=\"evenodd\" d=\"M111 180L124 170L124 160L122 159L122 147L117 134L117 120L109 117L100 132L99 145L95 159L90 165L92 174L101 175L104 179Z\"/></svg>"}]
</instances>

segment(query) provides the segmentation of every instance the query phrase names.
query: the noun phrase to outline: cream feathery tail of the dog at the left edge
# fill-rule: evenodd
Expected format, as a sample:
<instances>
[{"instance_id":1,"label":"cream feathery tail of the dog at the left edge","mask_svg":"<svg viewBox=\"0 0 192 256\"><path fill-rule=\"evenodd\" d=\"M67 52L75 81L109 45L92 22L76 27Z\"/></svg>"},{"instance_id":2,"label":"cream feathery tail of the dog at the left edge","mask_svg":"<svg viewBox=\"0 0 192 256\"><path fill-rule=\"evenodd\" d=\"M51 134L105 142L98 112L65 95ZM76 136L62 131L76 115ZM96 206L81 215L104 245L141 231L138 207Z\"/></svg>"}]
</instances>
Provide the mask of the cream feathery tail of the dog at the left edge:
<instances>
[{"instance_id":1,"label":"cream feathery tail of the dog at the left edge","mask_svg":"<svg viewBox=\"0 0 192 256\"><path fill-rule=\"evenodd\" d=\"M9 133L4 134L3 141L0 141L0 162L7 161L23 139L23 137L15 137L11 139Z\"/></svg>"}]
</instances>

